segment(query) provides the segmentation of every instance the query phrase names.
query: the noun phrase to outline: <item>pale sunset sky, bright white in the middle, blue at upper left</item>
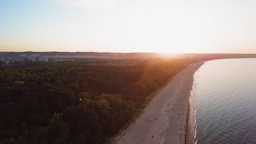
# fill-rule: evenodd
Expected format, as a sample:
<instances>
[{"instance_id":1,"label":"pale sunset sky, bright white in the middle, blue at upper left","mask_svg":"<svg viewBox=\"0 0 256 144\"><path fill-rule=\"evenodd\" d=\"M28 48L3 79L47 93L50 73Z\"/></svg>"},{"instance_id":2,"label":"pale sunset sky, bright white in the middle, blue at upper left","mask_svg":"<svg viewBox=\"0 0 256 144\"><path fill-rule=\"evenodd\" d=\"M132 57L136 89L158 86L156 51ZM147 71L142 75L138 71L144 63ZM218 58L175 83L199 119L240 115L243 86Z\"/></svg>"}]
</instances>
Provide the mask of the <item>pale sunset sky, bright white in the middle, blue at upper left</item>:
<instances>
[{"instance_id":1,"label":"pale sunset sky, bright white in the middle, blue at upper left","mask_svg":"<svg viewBox=\"0 0 256 144\"><path fill-rule=\"evenodd\" d=\"M0 51L256 53L256 1L0 0Z\"/></svg>"}]
</instances>

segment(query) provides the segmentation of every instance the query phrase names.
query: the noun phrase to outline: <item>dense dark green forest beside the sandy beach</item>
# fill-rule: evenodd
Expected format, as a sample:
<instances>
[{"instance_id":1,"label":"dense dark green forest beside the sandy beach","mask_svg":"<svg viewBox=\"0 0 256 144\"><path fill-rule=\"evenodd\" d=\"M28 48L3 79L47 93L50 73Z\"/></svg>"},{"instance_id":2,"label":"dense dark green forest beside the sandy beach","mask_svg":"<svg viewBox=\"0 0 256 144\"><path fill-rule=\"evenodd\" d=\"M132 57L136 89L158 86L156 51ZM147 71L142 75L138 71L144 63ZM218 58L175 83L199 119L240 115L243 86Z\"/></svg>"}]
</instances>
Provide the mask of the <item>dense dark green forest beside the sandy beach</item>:
<instances>
[{"instance_id":1,"label":"dense dark green forest beside the sandy beach","mask_svg":"<svg viewBox=\"0 0 256 144\"><path fill-rule=\"evenodd\" d=\"M188 59L0 66L0 143L105 143Z\"/></svg>"}]
</instances>

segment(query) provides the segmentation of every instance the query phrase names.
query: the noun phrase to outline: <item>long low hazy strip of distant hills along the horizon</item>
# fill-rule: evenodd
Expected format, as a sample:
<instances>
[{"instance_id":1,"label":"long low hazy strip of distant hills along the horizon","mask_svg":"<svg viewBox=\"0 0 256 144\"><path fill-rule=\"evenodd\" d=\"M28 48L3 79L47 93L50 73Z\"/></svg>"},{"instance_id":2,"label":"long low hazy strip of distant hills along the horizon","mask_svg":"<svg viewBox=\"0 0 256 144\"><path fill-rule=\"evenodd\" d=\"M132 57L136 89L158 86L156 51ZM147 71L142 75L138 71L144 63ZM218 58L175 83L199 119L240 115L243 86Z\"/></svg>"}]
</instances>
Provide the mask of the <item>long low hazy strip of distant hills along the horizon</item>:
<instances>
[{"instance_id":1,"label":"long low hazy strip of distant hills along the horizon","mask_svg":"<svg viewBox=\"0 0 256 144\"><path fill-rule=\"evenodd\" d=\"M256 54L241 54L241 53L178 53L178 54L162 54L150 52L0 52L0 57L20 57L20 55L40 54L40 56L109 56L110 58L193 58L193 59L219 59L219 58L256 58Z\"/></svg>"}]
</instances>

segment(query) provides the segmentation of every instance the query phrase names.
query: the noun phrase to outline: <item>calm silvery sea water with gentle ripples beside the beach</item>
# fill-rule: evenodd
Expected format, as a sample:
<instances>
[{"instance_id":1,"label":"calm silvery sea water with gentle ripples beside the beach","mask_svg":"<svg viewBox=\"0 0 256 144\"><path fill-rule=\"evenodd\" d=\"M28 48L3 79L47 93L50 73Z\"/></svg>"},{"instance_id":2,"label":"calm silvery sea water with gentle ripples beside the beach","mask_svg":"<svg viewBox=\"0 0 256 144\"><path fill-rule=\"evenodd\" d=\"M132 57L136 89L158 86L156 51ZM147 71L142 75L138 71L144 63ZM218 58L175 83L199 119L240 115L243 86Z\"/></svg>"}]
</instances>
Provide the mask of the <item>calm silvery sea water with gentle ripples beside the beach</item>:
<instances>
[{"instance_id":1,"label":"calm silvery sea water with gentle ripples beside the beach","mask_svg":"<svg viewBox=\"0 0 256 144\"><path fill-rule=\"evenodd\" d=\"M256 59L206 62L191 93L193 143L256 143Z\"/></svg>"}]
</instances>

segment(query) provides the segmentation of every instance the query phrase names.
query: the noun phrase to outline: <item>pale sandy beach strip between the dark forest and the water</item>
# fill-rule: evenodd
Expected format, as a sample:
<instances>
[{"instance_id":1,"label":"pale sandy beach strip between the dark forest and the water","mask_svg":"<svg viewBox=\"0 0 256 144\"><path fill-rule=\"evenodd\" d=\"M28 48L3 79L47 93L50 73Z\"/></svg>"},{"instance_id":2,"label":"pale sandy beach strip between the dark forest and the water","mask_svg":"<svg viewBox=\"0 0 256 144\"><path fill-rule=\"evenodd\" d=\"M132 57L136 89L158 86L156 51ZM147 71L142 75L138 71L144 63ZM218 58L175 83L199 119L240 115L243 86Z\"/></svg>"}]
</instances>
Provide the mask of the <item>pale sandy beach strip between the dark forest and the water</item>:
<instances>
[{"instance_id":1,"label":"pale sandy beach strip between the dark forest and the water","mask_svg":"<svg viewBox=\"0 0 256 144\"><path fill-rule=\"evenodd\" d=\"M203 63L193 63L176 75L115 143L185 143L193 75Z\"/></svg>"}]
</instances>

